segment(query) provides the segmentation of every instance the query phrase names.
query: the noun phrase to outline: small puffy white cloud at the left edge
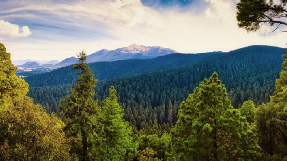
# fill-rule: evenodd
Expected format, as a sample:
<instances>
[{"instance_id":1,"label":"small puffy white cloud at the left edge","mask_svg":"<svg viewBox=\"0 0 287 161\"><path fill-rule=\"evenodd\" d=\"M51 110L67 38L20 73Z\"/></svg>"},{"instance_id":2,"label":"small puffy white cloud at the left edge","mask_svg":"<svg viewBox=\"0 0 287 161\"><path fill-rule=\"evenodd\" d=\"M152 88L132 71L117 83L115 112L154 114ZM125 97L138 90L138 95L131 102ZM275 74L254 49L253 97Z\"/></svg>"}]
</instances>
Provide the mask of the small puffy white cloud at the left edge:
<instances>
[{"instance_id":1,"label":"small puffy white cloud at the left edge","mask_svg":"<svg viewBox=\"0 0 287 161\"><path fill-rule=\"evenodd\" d=\"M28 26L19 27L17 24L11 24L0 20L0 37L20 38L31 34Z\"/></svg>"}]
</instances>

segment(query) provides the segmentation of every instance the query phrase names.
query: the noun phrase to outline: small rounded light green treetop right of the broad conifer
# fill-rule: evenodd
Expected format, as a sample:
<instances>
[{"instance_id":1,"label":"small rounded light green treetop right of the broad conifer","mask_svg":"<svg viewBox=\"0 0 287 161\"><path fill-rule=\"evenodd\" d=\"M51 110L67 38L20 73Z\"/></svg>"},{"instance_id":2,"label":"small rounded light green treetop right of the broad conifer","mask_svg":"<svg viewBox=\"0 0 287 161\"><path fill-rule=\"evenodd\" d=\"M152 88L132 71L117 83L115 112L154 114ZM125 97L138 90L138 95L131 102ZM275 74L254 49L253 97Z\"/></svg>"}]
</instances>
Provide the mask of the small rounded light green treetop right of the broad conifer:
<instances>
[{"instance_id":1,"label":"small rounded light green treetop right of the broad conifer","mask_svg":"<svg viewBox=\"0 0 287 161\"><path fill-rule=\"evenodd\" d=\"M249 124L254 122L255 105L252 100L245 101L239 108L241 116L245 116Z\"/></svg>"}]
</instances>

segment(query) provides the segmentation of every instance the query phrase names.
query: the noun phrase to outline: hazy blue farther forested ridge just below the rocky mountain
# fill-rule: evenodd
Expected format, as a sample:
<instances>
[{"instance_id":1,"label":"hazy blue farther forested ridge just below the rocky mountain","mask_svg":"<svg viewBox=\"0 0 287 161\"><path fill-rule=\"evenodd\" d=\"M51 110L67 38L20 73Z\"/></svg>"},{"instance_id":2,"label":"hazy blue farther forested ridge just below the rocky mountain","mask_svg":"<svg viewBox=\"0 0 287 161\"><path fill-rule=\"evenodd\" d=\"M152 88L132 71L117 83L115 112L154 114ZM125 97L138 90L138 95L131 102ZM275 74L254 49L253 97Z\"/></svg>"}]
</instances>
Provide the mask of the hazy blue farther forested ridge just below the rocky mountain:
<instances>
[{"instance_id":1,"label":"hazy blue farther forested ridge just below the rocky mountain","mask_svg":"<svg viewBox=\"0 0 287 161\"><path fill-rule=\"evenodd\" d=\"M113 62L95 62L89 66L98 80L119 78L125 75L133 75L152 70L170 69L184 66L193 61L216 55L218 53L201 54L170 54L153 59L129 59ZM60 84L71 84L76 81L76 72L71 70L72 66L65 66L51 72L36 74L25 78L30 86L55 86ZM120 69L120 70L119 70Z\"/></svg>"}]
</instances>

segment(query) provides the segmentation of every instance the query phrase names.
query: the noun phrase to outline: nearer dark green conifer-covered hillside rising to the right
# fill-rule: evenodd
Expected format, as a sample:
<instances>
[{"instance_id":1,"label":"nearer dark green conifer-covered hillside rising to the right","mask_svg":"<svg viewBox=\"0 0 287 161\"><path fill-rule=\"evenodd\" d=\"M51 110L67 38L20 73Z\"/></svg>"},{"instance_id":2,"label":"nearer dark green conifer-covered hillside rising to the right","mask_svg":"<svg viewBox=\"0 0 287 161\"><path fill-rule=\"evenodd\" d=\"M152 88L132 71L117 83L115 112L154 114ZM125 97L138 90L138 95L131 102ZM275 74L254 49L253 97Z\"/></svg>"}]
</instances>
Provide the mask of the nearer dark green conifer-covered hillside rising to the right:
<instances>
[{"instance_id":1,"label":"nearer dark green conifer-covered hillside rising to the right","mask_svg":"<svg viewBox=\"0 0 287 161\"><path fill-rule=\"evenodd\" d=\"M200 81L217 71L235 108L249 99L259 105L268 102L274 92L275 79L283 62L281 54L285 51L278 47L250 46L183 67L101 81L95 88L95 97L101 103L108 95L109 87L115 86L125 110L124 118L138 129L155 119L160 124L175 123L179 103L192 93ZM69 84L33 87L32 83L28 95L45 106L48 112L58 112L59 100L69 93L69 87ZM172 121L168 120L170 109Z\"/></svg>"}]
</instances>

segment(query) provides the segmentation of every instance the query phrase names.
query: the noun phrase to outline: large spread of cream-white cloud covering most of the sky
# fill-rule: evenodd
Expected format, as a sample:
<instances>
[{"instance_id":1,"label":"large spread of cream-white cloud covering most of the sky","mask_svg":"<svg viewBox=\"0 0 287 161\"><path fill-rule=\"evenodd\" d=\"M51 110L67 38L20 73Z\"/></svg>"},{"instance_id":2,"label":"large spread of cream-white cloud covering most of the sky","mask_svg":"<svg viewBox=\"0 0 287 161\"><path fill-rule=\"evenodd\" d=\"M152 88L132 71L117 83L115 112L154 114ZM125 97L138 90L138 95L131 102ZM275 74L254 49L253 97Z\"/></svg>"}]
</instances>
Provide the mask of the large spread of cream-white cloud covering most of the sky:
<instances>
[{"instance_id":1,"label":"large spread of cream-white cloud covering most of the sky","mask_svg":"<svg viewBox=\"0 0 287 161\"><path fill-rule=\"evenodd\" d=\"M38 59L60 60L75 55L82 49L90 54L99 49L115 49L133 43L157 45L184 53L230 51L255 44L286 47L286 36L283 33L268 34L269 27L266 31L264 28L253 33L247 33L239 28L234 1L203 1L209 2L210 6L205 12L197 14L180 12L178 6L158 11L144 6L140 0L80 1L74 4L53 4L53 7L48 4L30 3L24 4L21 8L2 10L0 13L10 13L6 15L13 16L21 10L39 10L57 17L56 20L45 18L51 24L61 19L73 20L68 22L74 23L72 24L74 28L95 30L99 30L95 27L100 22L107 26L100 31L111 35L106 38L91 38L85 42L71 42L69 35L63 35L67 37L67 41L31 41L25 45L22 42L9 42L7 50L11 49L13 59L23 59L24 56L31 55L35 59L38 57ZM190 10L193 10L192 7L194 6L191 6ZM32 13L26 14L41 20L40 16L43 15L30 15ZM9 16L5 18L9 19ZM31 21L33 19L36 18L31 18ZM43 33L50 34L48 31Z\"/></svg>"}]
</instances>

